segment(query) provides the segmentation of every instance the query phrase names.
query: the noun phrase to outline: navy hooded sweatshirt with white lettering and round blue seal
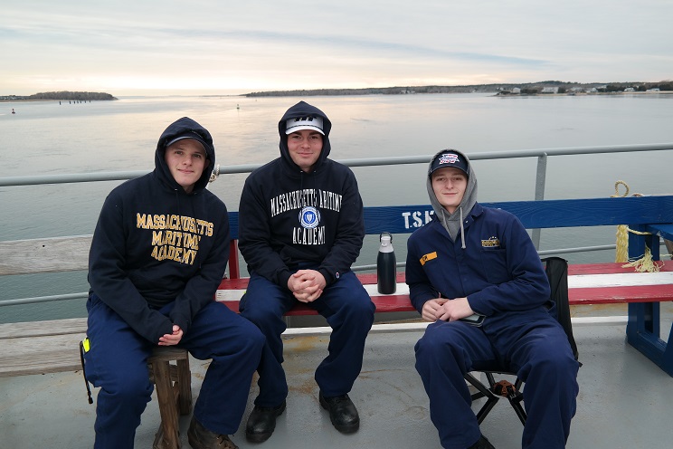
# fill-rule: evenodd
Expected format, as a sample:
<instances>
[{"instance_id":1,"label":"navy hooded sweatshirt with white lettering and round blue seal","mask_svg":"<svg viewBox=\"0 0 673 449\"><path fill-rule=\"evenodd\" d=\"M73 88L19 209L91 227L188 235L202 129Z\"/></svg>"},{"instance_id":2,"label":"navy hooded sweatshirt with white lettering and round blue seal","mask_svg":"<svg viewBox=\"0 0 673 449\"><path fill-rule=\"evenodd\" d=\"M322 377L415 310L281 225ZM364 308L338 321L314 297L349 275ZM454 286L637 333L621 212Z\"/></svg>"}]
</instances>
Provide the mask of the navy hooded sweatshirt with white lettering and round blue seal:
<instances>
[{"instance_id":1,"label":"navy hooded sweatshirt with white lettering and round blue seal","mask_svg":"<svg viewBox=\"0 0 673 449\"><path fill-rule=\"evenodd\" d=\"M323 148L310 173L289 155L286 121L299 117L323 119ZM362 198L351 169L327 158L330 129L321 110L299 101L279 121L280 158L253 171L243 186L239 247L248 271L283 287L306 267L322 273L327 285L336 282L362 247Z\"/></svg>"}]
</instances>

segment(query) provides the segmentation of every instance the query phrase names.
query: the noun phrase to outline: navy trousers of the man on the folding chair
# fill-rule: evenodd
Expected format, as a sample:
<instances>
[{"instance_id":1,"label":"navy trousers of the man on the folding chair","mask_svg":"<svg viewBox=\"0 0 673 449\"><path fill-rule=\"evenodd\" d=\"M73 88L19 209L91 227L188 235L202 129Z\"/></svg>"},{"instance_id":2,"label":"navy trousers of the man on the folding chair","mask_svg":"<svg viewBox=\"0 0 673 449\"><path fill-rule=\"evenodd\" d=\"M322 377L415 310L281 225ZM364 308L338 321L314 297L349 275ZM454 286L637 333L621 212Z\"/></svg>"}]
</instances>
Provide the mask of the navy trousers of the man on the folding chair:
<instances>
[{"instance_id":1,"label":"navy trousers of the man on the folding chair","mask_svg":"<svg viewBox=\"0 0 673 449\"><path fill-rule=\"evenodd\" d=\"M522 447L565 447L575 413L579 364L553 317L536 316L495 334L460 321L437 321L415 349L416 369L430 397L430 416L442 447L464 449L477 441L479 424L463 374L498 367L517 372L526 382Z\"/></svg>"}]
</instances>

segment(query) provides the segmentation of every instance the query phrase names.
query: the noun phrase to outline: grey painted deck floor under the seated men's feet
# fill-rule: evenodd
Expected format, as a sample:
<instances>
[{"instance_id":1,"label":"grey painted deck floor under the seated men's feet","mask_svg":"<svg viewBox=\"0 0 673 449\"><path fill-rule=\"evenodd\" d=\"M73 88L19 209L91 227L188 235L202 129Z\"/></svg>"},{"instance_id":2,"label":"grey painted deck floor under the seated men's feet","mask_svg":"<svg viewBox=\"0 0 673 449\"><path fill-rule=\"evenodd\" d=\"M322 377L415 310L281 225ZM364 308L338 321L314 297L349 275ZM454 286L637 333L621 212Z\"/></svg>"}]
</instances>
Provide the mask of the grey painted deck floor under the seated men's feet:
<instances>
[{"instance_id":1,"label":"grey painted deck floor under the seated men's feet","mask_svg":"<svg viewBox=\"0 0 673 449\"><path fill-rule=\"evenodd\" d=\"M662 330L668 335L669 326ZM668 448L673 441L670 414L673 377L625 343L623 325L575 327L580 358L577 414L567 444L573 449ZM431 424L428 399L413 368L419 331L370 334L362 374L351 393L361 417L354 435L341 435L318 404L313 372L325 357L327 336L286 340L288 409L264 444L245 441L245 419L233 441L243 448L322 447L440 448ZM194 398L207 362L192 359ZM97 391L94 390L94 395ZM477 409L481 401L475 403ZM81 372L0 378L0 447L21 449L90 448L94 405L89 405ZM189 416L181 417L183 446ZM137 430L136 447L149 448L159 425L156 400ZM498 404L482 424L498 449L520 447L522 425L507 402Z\"/></svg>"}]
</instances>

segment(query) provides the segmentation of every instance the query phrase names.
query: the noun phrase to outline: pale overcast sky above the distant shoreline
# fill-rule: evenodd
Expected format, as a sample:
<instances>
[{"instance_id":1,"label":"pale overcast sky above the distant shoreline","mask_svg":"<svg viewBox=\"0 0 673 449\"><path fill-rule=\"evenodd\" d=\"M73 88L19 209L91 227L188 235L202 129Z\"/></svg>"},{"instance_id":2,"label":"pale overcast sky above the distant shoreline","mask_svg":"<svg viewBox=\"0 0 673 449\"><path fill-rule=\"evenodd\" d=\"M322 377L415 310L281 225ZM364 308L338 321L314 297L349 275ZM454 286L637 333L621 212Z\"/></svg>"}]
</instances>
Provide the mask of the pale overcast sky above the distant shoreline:
<instances>
[{"instance_id":1,"label":"pale overcast sky above the distant shoreline","mask_svg":"<svg viewBox=\"0 0 673 449\"><path fill-rule=\"evenodd\" d=\"M671 0L0 0L0 95L673 79Z\"/></svg>"}]
</instances>

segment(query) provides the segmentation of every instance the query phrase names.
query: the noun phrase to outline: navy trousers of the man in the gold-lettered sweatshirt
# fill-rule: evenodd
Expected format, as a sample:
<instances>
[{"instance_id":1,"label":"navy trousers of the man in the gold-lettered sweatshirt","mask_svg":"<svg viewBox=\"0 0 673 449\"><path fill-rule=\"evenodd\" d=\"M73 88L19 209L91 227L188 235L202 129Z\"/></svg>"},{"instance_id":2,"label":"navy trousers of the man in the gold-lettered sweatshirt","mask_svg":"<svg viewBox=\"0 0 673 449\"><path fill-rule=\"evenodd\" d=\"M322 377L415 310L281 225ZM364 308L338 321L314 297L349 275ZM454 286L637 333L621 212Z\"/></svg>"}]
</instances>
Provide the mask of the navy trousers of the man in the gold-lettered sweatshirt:
<instances>
[{"instance_id":1,"label":"navy trousers of the man in the gold-lettered sweatshirt","mask_svg":"<svg viewBox=\"0 0 673 449\"><path fill-rule=\"evenodd\" d=\"M161 311L168 313L173 304ZM147 358L155 345L140 337L96 295L87 302L90 350L86 374L100 387L96 406L96 449L132 448L154 389ZM248 401L252 374L264 337L250 321L211 302L195 317L179 348L194 358L212 359L194 406L194 417L217 434L236 432Z\"/></svg>"}]
</instances>

